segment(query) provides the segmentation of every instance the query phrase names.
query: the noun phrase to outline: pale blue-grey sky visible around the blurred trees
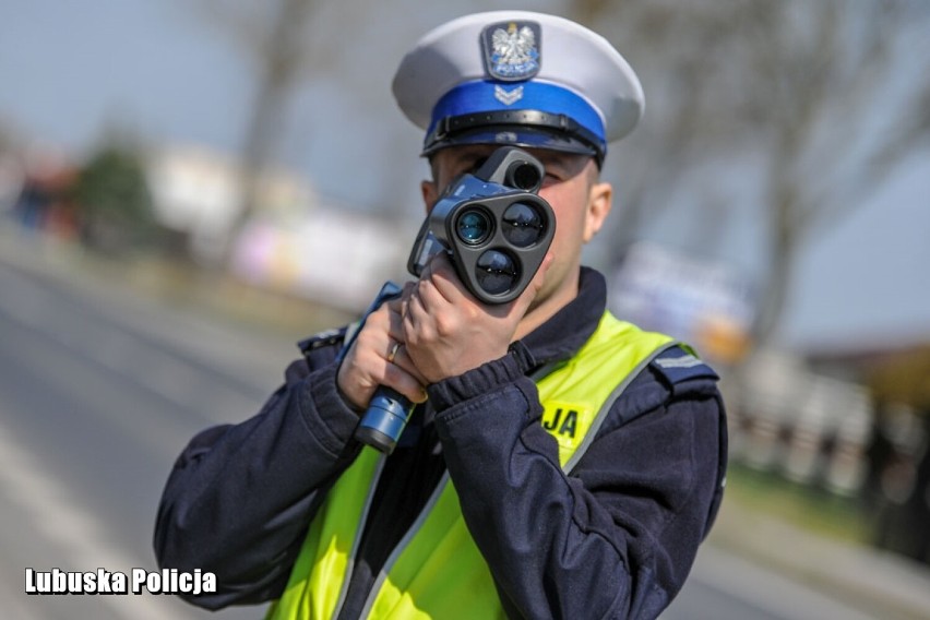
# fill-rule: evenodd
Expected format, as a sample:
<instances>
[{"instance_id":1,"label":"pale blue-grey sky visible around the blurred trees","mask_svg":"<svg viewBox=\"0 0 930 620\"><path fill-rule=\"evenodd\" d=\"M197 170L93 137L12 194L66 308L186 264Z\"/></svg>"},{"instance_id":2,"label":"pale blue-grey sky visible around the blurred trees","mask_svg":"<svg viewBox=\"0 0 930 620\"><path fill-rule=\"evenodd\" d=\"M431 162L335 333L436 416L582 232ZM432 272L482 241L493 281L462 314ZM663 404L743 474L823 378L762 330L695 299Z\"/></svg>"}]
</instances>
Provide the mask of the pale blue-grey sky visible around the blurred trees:
<instances>
[{"instance_id":1,"label":"pale blue-grey sky visible around the blurred trees","mask_svg":"<svg viewBox=\"0 0 930 620\"><path fill-rule=\"evenodd\" d=\"M182 0L3 2L0 122L74 154L92 148L112 127L128 127L148 140L235 152L253 78L247 57L191 5ZM372 208L390 188L395 203L409 203L418 213L422 163L409 157L406 168L382 166L374 146L390 141L398 153L417 152L421 135L394 106L391 73L415 36L460 9L425 0L373 7L366 27L341 39L345 50L332 50L345 53L355 68L349 78L367 83L366 100L338 87L338 72L348 70L346 62L333 60L332 72L324 68L296 93L290 105L298 122L288 130L282 157L336 202ZM377 57L369 51L374 46L354 45L354 37L375 36L383 37ZM372 108L383 114L365 111ZM690 225L681 218L659 220L648 235L687 245ZM741 225L748 233L730 242L722 259L752 273L758 265L751 231L760 223ZM806 247L784 341L844 348L930 342L928 239L930 145Z\"/></svg>"}]
</instances>

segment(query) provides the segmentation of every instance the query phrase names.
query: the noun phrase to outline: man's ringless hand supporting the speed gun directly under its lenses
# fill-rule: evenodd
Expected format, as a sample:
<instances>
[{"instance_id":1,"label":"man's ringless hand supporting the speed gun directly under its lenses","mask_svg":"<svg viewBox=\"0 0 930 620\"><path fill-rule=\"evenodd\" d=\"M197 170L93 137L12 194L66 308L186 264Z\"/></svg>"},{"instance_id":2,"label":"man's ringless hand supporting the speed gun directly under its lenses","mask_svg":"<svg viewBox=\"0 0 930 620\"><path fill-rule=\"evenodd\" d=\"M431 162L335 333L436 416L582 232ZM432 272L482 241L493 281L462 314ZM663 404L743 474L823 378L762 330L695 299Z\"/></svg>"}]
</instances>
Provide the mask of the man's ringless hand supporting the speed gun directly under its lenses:
<instances>
[{"instance_id":1,"label":"man's ringless hand supporting the speed gun directly under its lenses","mask_svg":"<svg viewBox=\"0 0 930 620\"><path fill-rule=\"evenodd\" d=\"M503 357L542 287L550 263L551 255L520 297L488 306L465 288L445 253L433 257L402 297L405 353L426 382L436 383Z\"/></svg>"}]
</instances>

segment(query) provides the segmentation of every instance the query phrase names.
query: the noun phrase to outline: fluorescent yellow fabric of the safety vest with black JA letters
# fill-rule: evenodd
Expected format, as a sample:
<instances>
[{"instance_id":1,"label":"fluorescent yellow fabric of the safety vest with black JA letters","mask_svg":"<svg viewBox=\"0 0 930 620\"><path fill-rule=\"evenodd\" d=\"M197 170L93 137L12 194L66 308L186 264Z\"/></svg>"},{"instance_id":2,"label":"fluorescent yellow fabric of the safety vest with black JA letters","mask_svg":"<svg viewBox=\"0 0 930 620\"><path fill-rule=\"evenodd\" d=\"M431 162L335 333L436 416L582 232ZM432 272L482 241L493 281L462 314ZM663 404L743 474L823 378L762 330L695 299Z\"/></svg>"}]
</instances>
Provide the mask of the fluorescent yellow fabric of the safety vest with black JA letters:
<instances>
[{"instance_id":1,"label":"fluorescent yellow fabric of the safety vest with black JA letters","mask_svg":"<svg viewBox=\"0 0 930 620\"><path fill-rule=\"evenodd\" d=\"M542 426L570 472L623 389L670 337L643 332L605 312L587 343L537 379ZM353 558L385 456L365 446L330 490L313 520L273 619L333 618L342 607ZM487 563L472 539L458 496L442 476L427 505L385 562L362 617L504 618Z\"/></svg>"}]
</instances>

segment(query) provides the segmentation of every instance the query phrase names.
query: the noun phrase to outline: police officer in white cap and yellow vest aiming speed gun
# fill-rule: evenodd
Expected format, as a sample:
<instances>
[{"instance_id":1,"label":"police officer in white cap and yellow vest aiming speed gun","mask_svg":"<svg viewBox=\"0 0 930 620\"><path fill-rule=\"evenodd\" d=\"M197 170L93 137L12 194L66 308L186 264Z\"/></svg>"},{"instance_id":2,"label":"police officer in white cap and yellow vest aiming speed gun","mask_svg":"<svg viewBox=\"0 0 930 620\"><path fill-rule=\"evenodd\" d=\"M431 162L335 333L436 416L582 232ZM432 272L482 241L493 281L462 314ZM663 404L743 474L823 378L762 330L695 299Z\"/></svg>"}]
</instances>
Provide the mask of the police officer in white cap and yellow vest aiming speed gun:
<instances>
[{"instance_id":1,"label":"police officer in white cap and yellow vest aiming speed gun","mask_svg":"<svg viewBox=\"0 0 930 620\"><path fill-rule=\"evenodd\" d=\"M255 417L181 454L159 563L216 574L195 605L274 618L654 618L719 505L726 425L714 371L611 317L581 265L636 75L579 24L501 11L428 33L393 91L426 133L427 208L501 145L545 165L549 255L494 306L439 255L344 357L346 330L305 342ZM378 385L418 404L390 456L354 437Z\"/></svg>"}]
</instances>

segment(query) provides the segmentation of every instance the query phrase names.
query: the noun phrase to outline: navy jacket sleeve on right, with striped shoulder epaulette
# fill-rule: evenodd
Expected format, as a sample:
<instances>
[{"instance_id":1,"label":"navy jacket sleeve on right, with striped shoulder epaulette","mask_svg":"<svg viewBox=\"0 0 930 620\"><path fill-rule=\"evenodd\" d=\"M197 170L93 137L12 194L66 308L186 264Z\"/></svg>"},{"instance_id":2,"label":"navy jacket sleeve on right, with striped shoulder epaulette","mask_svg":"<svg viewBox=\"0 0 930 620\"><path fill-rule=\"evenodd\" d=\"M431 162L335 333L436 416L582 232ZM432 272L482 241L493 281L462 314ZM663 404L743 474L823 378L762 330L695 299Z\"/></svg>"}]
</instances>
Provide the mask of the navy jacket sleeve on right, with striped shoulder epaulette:
<instances>
[{"instance_id":1,"label":"navy jacket sleeve on right, with striped shoulder epaulette","mask_svg":"<svg viewBox=\"0 0 930 620\"><path fill-rule=\"evenodd\" d=\"M726 467L714 380L649 366L565 476L508 356L430 389L469 532L511 617L654 618L687 577ZM622 425L630 410L644 413Z\"/></svg>"}]
</instances>

